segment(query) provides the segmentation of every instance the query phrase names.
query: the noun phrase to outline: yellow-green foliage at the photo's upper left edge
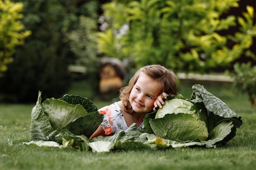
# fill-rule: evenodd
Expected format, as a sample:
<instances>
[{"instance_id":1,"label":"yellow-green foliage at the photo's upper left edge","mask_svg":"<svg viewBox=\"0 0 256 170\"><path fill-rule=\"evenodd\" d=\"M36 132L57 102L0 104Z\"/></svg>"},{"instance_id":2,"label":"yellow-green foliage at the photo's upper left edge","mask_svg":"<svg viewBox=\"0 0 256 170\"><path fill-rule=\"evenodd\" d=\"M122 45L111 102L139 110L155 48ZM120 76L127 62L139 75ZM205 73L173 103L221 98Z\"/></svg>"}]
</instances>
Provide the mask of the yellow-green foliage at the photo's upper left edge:
<instances>
[{"instance_id":1,"label":"yellow-green foliage at the photo's upper left edge","mask_svg":"<svg viewBox=\"0 0 256 170\"><path fill-rule=\"evenodd\" d=\"M22 2L0 0L0 77L12 62L15 47L24 44L24 39L31 34L31 31L23 31L22 9Z\"/></svg>"}]
</instances>

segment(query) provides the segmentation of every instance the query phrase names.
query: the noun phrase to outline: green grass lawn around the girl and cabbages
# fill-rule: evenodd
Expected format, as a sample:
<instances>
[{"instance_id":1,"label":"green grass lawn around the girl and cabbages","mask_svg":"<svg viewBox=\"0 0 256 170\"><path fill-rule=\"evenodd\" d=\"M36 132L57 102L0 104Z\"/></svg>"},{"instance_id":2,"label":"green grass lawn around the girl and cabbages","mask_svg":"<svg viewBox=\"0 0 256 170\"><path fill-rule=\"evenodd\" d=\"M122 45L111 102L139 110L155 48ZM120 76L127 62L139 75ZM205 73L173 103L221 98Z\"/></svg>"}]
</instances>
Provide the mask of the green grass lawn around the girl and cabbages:
<instances>
[{"instance_id":1,"label":"green grass lawn around the girl and cabbages","mask_svg":"<svg viewBox=\"0 0 256 170\"><path fill-rule=\"evenodd\" d=\"M247 95L229 87L205 86L242 117L243 125L226 146L169 150L117 151L106 154L74 149L25 146L29 142L30 114L35 104L0 104L0 170L254 170L256 167L256 110ZM180 93L189 98L191 86ZM75 83L69 94L92 97L85 84ZM109 102L94 101L100 108ZM8 139L13 144L9 146Z\"/></svg>"}]
</instances>

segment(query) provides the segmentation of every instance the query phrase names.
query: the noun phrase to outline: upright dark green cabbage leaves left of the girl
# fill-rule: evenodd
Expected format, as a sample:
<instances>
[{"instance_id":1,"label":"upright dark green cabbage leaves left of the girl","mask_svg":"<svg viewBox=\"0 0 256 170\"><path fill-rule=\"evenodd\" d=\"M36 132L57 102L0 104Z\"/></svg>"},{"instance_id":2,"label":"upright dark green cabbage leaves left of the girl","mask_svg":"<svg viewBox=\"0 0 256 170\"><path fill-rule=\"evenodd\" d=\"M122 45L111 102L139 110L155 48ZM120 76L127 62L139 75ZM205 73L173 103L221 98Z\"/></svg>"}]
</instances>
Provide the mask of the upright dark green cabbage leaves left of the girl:
<instances>
[{"instance_id":1,"label":"upright dark green cabbage leaves left of the girl","mask_svg":"<svg viewBox=\"0 0 256 170\"><path fill-rule=\"evenodd\" d=\"M73 135L90 137L103 120L97 107L87 98L65 95L60 99L46 99L43 103L41 92L31 111L30 136L32 140L57 141L63 129ZM86 110L87 109L87 110Z\"/></svg>"}]
</instances>

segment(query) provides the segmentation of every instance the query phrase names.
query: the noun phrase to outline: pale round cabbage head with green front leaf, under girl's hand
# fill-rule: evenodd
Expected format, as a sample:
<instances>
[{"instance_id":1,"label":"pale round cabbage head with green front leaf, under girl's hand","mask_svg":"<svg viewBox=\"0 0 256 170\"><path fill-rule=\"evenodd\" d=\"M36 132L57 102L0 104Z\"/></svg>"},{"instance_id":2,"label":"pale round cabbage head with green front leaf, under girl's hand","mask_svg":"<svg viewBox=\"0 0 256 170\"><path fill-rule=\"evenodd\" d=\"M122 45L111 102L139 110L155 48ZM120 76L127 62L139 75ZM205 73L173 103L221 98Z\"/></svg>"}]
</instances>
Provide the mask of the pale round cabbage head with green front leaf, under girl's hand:
<instances>
[{"instance_id":1,"label":"pale round cabbage head with green front leaf, under girl's hand","mask_svg":"<svg viewBox=\"0 0 256 170\"><path fill-rule=\"evenodd\" d=\"M191 110L193 103L185 99L166 100L162 109L158 109L150 125L153 132L164 139L174 141L205 141L208 130L198 113Z\"/></svg>"}]
</instances>

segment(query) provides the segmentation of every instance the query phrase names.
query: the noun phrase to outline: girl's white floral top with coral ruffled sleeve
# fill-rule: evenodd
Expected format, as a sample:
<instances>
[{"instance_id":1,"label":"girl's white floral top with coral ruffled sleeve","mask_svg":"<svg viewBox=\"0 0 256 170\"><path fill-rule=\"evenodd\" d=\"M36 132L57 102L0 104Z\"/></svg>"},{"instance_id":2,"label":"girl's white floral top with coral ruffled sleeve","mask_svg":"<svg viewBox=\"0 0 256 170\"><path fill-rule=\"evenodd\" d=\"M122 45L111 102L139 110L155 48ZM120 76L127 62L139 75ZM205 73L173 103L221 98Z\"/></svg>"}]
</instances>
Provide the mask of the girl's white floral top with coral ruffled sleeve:
<instances>
[{"instance_id":1,"label":"girl's white floral top with coral ruffled sleeve","mask_svg":"<svg viewBox=\"0 0 256 170\"><path fill-rule=\"evenodd\" d=\"M128 128L121 108L118 106L117 102L99 109L99 113L104 115L101 126L106 135L119 133L121 130L126 130ZM144 122L138 127L138 129L142 128L144 128Z\"/></svg>"}]
</instances>

